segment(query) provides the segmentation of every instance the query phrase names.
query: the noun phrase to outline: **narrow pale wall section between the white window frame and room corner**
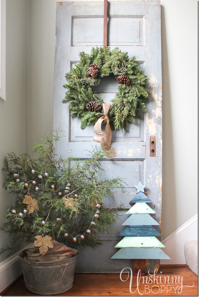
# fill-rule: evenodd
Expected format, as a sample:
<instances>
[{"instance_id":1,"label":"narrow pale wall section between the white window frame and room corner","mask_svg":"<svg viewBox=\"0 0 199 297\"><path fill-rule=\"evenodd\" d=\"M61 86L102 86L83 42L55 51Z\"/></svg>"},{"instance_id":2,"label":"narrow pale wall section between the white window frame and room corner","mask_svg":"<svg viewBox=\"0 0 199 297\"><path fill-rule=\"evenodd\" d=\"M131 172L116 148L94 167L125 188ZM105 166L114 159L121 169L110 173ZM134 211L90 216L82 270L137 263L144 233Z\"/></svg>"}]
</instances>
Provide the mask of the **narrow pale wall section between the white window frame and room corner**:
<instances>
[{"instance_id":1,"label":"narrow pale wall section between the white window frame and room corner","mask_svg":"<svg viewBox=\"0 0 199 297\"><path fill-rule=\"evenodd\" d=\"M6 13L6 102L0 99L0 168L7 152L28 150L27 130L27 27L28 1L7 0ZM4 172L0 169L0 225L13 197L3 189ZM0 231L0 248L9 243ZM0 261L6 254L1 255Z\"/></svg>"}]
</instances>

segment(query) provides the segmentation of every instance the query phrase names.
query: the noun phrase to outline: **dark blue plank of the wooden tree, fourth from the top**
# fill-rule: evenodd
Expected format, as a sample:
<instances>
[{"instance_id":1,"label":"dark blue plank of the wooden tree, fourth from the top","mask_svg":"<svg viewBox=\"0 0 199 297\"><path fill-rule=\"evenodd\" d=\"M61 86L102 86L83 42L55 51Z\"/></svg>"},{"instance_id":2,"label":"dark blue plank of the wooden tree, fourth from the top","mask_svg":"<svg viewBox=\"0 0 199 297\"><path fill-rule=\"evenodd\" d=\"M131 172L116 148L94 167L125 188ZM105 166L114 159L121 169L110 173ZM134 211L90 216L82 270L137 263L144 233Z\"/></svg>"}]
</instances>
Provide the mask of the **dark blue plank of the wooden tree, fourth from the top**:
<instances>
[{"instance_id":1,"label":"dark blue plank of the wooden tree, fourth from the top","mask_svg":"<svg viewBox=\"0 0 199 297\"><path fill-rule=\"evenodd\" d=\"M152 225L136 225L126 227L119 235L119 237L125 236L162 236Z\"/></svg>"}]
</instances>

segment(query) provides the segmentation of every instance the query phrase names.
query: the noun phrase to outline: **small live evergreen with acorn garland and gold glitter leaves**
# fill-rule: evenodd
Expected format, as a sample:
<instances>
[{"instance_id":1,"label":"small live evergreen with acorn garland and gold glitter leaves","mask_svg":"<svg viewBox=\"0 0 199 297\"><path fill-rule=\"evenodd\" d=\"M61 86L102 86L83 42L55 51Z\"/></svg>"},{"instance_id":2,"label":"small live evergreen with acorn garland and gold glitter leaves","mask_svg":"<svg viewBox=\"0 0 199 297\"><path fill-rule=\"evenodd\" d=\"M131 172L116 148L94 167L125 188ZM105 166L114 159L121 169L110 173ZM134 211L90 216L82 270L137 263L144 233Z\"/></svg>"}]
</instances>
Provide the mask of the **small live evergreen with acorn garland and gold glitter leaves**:
<instances>
[{"instance_id":1,"label":"small live evergreen with acorn garland and gold glitter leaves","mask_svg":"<svg viewBox=\"0 0 199 297\"><path fill-rule=\"evenodd\" d=\"M116 208L103 208L103 198L113 198L112 190L122 188L120 178L102 179L99 159L105 153L94 149L89 159L76 160L70 168L75 159L55 154L58 133L42 138L44 144L33 146L36 157L12 152L5 159L5 188L16 200L1 228L13 234L13 247L1 252L42 234L72 247L94 247L98 233L107 231L118 217Z\"/></svg>"}]
</instances>

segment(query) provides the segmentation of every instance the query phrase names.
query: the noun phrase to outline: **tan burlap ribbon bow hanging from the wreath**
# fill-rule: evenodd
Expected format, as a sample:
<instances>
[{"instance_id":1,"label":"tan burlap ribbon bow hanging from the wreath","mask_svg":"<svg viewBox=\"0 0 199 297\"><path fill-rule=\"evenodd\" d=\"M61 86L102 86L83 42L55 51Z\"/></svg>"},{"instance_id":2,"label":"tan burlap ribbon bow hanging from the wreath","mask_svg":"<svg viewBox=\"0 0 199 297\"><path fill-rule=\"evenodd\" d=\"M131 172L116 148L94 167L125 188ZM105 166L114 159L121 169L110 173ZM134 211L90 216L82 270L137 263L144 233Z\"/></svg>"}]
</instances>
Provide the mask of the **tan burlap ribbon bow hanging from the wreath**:
<instances>
[{"instance_id":1,"label":"tan burlap ribbon bow hanging from the wreath","mask_svg":"<svg viewBox=\"0 0 199 297\"><path fill-rule=\"evenodd\" d=\"M109 125L108 111L111 107L111 103L102 103L102 108L104 110L104 116L98 119L97 123L94 125L95 136L94 141L100 142L102 145L102 150L109 152L107 155L108 159L113 159L116 157L114 148L110 149L111 146L111 127ZM104 132L102 132L102 122L106 123Z\"/></svg>"}]
</instances>

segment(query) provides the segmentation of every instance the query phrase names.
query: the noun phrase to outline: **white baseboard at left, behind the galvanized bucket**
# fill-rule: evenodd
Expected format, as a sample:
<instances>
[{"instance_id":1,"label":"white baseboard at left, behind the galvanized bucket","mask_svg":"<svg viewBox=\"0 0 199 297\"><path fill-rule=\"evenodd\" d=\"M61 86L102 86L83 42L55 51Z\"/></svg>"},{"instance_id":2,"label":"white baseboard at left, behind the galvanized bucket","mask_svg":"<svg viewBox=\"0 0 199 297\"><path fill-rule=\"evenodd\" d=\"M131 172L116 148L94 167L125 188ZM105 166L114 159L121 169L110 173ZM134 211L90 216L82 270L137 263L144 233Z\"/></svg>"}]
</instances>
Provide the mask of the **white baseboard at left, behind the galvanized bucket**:
<instances>
[{"instance_id":1,"label":"white baseboard at left, behind the galvanized bucket","mask_svg":"<svg viewBox=\"0 0 199 297\"><path fill-rule=\"evenodd\" d=\"M6 260L0 263L0 292L2 292L7 286L9 286L17 277L22 274L22 269L20 265L20 254L24 249L32 247L32 244L29 244L27 247L19 250L14 255L10 256Z\"/></svg>"}]
</instances>

